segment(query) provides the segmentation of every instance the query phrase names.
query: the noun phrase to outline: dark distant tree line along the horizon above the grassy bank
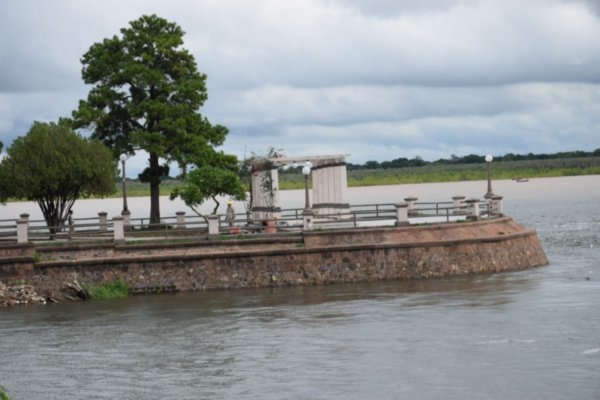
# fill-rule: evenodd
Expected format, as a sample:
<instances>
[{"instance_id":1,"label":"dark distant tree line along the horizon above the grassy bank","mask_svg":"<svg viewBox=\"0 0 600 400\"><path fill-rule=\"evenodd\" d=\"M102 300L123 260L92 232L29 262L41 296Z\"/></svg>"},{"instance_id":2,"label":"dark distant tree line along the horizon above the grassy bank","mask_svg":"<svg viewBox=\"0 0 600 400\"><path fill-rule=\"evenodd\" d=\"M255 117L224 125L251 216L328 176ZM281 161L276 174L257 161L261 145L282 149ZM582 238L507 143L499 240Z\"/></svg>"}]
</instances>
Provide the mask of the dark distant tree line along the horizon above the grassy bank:
<instances>
[{"instance_id":1,"label":"dark distant tree line along the horizon above the grassy bank","mask_svg":"<svg viewBox=\"0 0 600 400\"><path fill-rule=\"evenodd\" d=\"M494 162L502 161L522 161L522 160L549 160L549 159L565 159L565 158L583 158L583 157L600 157L600 148L594 151L563 151L552 154L514 154L507 153L503 156L494 156ZM361 169L390 169L390 168L408 168L408 167L422 167L425 165L451 165L451 164L480 164L485 162L485 155L481 156L478 154L468 154L466 156L459 157L452 154L449 159L440 158L436 161L425 161L422 157L416 156L415 158L408 159L405 157L396 158L391 161L367 161L364 164L352 164L348 163L347 168L349 170L361 170Z\"/></svg>"}]
</instances>

